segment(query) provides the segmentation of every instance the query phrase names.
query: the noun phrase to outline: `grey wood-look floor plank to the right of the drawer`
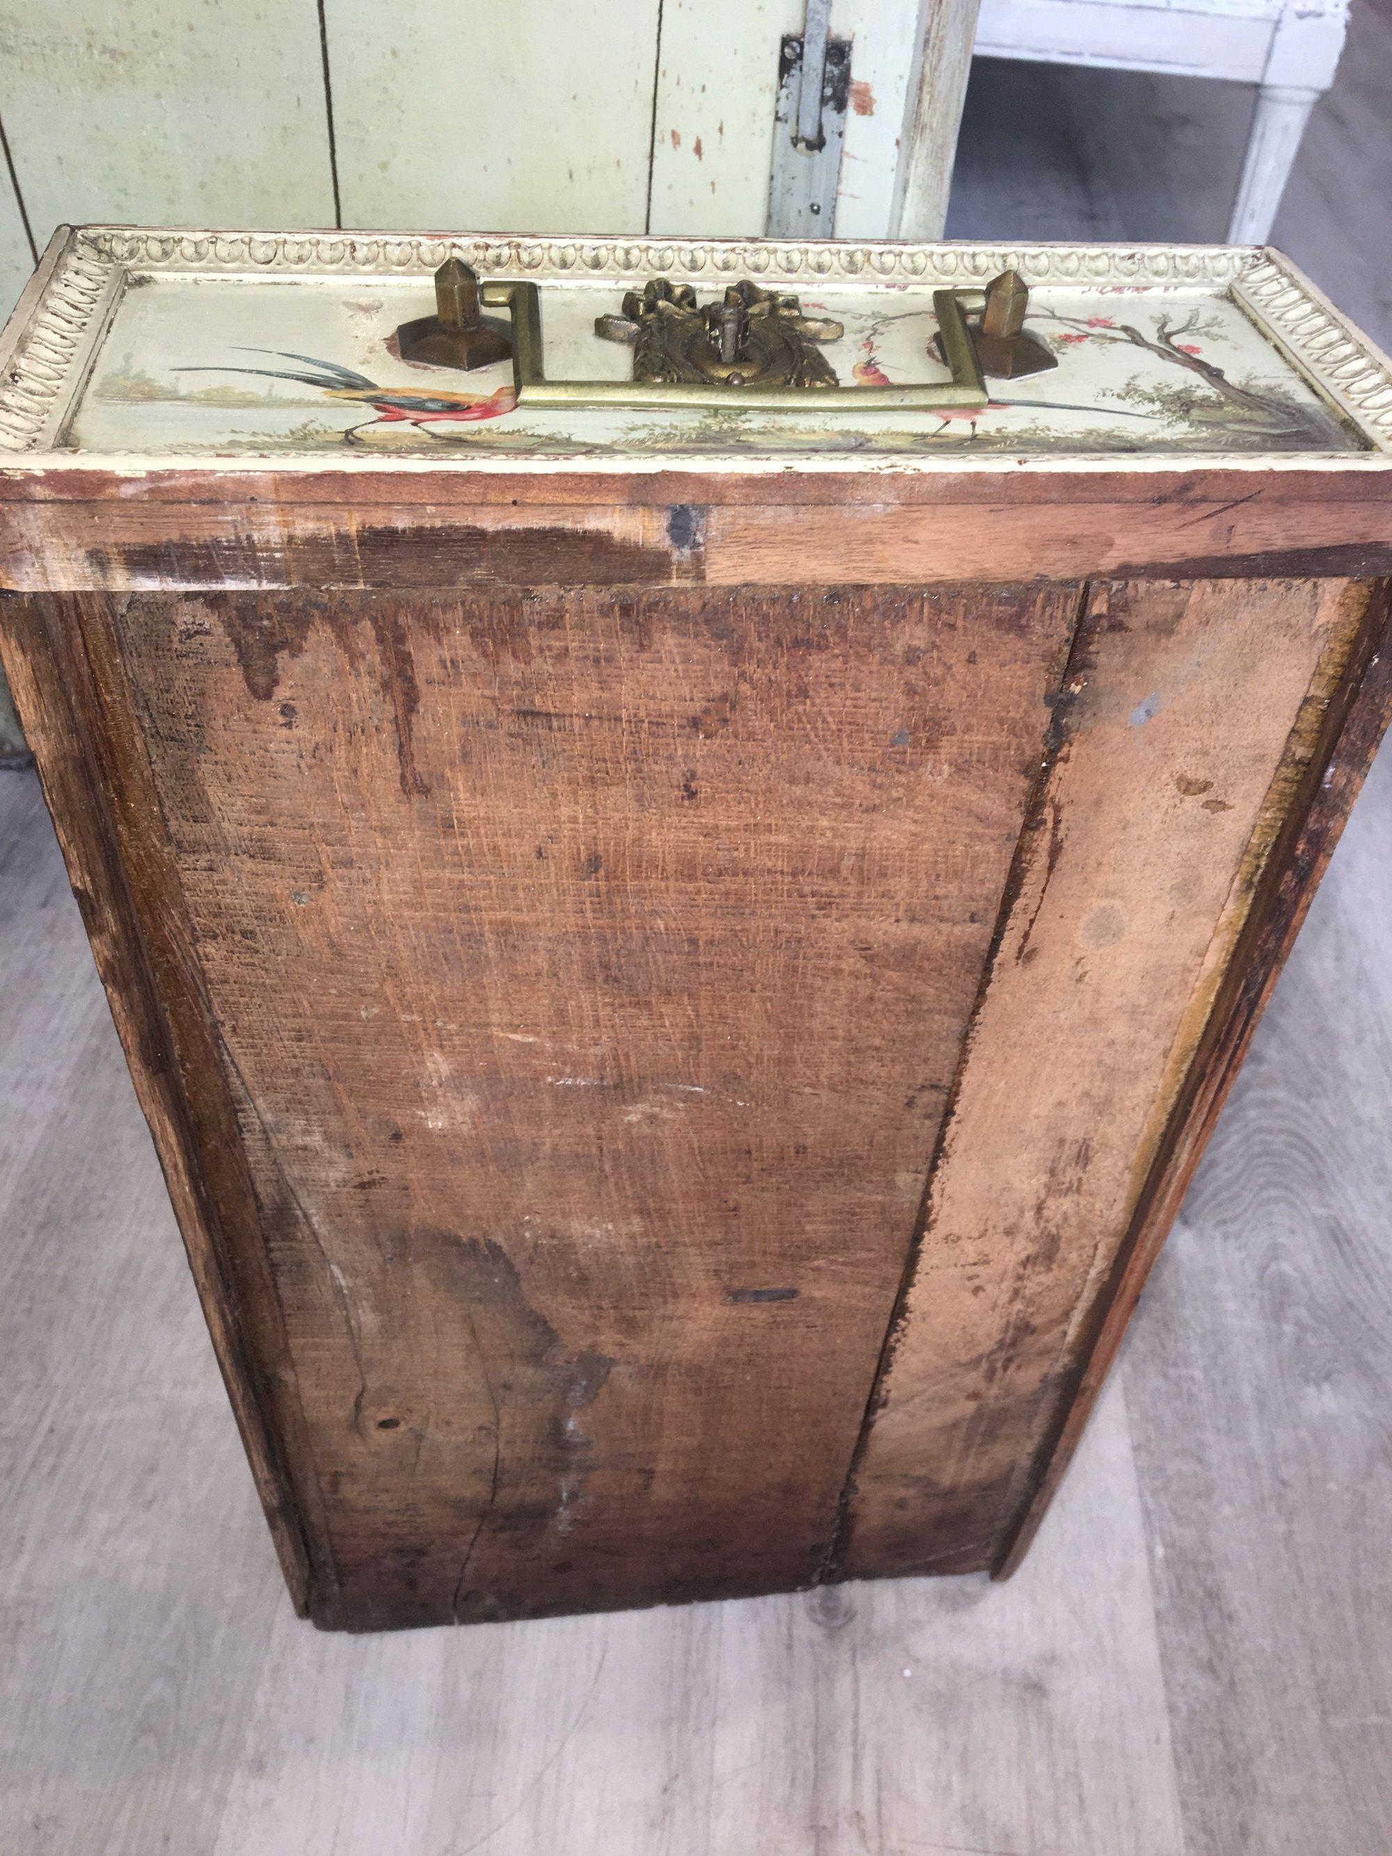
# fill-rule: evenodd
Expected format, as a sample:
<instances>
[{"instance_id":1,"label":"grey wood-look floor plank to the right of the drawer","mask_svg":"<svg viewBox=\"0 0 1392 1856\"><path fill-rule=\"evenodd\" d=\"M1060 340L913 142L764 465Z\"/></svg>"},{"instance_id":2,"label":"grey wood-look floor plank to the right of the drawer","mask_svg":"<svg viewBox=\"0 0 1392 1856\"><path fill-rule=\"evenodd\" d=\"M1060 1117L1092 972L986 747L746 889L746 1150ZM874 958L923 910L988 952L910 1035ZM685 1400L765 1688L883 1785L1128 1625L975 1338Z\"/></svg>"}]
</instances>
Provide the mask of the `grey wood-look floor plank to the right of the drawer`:
<instances>
[{"instance_id":1,"label":"grey wood-look floor plank to the right of the drawer","mask_svg":"<svg viewBox=\"0 0 1392 1856\"><path fill-rule=\"evenodd\" d=\"M1127 1349L1188 1856L1392 1849L1388 922L1385 755Z\"/></svg>"}]
</instances>

